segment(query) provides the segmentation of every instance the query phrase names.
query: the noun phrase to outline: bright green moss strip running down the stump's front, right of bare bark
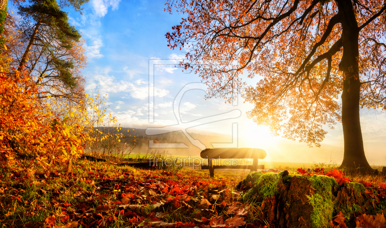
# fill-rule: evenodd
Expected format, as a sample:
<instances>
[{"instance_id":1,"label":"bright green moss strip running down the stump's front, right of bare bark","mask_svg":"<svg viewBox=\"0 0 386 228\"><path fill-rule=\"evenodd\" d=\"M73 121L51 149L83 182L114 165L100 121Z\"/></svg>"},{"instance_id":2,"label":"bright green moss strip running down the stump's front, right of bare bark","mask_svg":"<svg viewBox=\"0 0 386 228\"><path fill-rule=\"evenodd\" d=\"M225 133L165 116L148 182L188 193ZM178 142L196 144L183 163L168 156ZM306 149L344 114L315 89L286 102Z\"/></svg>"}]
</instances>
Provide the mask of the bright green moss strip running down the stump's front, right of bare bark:
<instances>
[{"instance_id":1,"label":"bright green moss strip running down the stump's front, right of bare bark","mask_svg":"<svg viewBox=\"0 0 386 228\"><path fill-rule=\"evenodd\" d=\"M313 206L311 220L314 227L327 227L332 220L334 210L332 189L337 182L332 177L313 175L308 178L315 193L307 196Z\"/></svg>"}]
</instances>

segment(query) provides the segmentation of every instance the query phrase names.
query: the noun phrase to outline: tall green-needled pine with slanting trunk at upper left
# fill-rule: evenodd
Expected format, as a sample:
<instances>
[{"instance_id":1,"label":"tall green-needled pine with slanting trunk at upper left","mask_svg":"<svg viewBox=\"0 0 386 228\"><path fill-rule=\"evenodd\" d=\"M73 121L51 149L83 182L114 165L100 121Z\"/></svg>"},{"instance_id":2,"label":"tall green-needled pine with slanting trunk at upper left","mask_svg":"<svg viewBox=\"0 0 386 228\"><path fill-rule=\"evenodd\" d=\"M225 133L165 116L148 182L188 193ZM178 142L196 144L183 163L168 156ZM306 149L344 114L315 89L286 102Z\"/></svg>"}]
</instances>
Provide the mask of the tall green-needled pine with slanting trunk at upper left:
<instances>
[{"instance_id":1,"label":"tall green-needled pine with slanting trunk at upper left","mask_svg":"<svg viewBox=\"0 0 386 228\"><path fill-rule=\"evenodd\" d=\"M85 0L64 1L75 10ZM22 17L17 29L22 31L22 46L13 49L15 68L36 76L44 89L40 97L82 97L84 78L80 69L86 64L80 33L68 22L67 13L56 0L30 0L18 6ZM75 99L74 99L75 98Z\"/></svg>"}]
</instances>

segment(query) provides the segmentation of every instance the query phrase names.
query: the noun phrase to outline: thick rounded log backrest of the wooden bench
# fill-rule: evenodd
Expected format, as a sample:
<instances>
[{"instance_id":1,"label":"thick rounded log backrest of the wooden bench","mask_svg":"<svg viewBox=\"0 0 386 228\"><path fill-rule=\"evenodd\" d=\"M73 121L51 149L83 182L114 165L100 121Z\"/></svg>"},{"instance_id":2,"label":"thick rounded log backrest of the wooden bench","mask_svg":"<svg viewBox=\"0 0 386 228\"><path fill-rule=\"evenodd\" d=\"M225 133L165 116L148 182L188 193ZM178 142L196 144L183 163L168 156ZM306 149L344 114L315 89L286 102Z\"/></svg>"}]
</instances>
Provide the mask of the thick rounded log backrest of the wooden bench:
<instances>
[{"instance_id":1,"label":"thick rounded log backrest of the wooden bench","mask_svg":"<svg viewBox=\"0 0 386 228\"><path fill-rule=\"evenodd\" d=\"M218 159L264 159L267 156L267 152L257 148L226 148L226 149L205 149L201 151L200 156L202 158L214 158Z\"/></svg>"}]
</instances>

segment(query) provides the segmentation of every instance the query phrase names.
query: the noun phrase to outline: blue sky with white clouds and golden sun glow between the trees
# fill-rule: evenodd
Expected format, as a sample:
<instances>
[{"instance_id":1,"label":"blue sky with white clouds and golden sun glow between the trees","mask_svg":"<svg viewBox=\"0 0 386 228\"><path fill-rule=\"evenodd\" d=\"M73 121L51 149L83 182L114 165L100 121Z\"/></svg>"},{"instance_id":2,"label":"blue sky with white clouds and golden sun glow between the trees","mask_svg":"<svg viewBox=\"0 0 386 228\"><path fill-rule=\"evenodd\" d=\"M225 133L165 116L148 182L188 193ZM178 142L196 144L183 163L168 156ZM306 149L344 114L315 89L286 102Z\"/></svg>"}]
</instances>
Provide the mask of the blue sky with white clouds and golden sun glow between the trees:
<instances>
[{"instance_id":1,"label":"blue sky with white clouds and golden sun glow between the trees","mask_svg":"<svg viewBox=\"0 0 386 228\"><path fill-rule=\"evenodd\" d=\"M107 94L110 110L124 127L159 127L174 125L173 101L188 83L200 82L196 75L182 73L173 65L154 69L154 123L148 119L149 59L181 59L183 53L167 47L166 32L180 22L181 16L164 12L163 1L90 0L83 15L69 11L70 23L86 40L88 67L86 93ZM256 80L255 80L256 81ZM269 135L267 127L256 126L245 117L251 104L239 99L237 106L221 99L204 100L205 92L190 90L181 99L179 113L183 122L218 115L238 109L238 118L208 123L188 129L197 133L232 133L238 123L239 147L256 147L268 152L267 160L288 162L338 163L343 158L342 125L329 132L321 148L309 149L297 141ZM373 111L361 111L362 133L370 164L386 164L386 117Z\"/></svg>"}]
</instances>

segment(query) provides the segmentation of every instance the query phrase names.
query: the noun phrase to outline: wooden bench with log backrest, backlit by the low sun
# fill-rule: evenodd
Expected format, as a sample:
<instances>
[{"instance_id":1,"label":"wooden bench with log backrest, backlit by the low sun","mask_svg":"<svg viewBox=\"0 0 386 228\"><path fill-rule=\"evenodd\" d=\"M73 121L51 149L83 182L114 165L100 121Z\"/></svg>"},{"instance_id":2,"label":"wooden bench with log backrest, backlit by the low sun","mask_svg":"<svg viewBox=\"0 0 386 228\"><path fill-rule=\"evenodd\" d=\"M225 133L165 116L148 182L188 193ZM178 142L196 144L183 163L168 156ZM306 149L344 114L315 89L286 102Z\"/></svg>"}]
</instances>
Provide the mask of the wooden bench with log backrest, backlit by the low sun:
<instances>
[{"instance_id":1,"label":"wooden bench with log backrest, backlit by the low sun","mask_svg":"<svg viewBox=\"0 0 386 228\"><path fill-rule=\"evenodd\" d=\"M264 159L267 156L265 150L256 148L234 148L234 149L205 149L201 151L200 156L208 159L207 165L201 165L201 169L209 169L211 177L215 176L214 169L264 169L264 165L259 165L259 159ZM253 159L252 165L236 165L232 164L213 165L212 160L215 159ZM217 163L217 161L215 161Z\"/></svg>"}]
</instances>

